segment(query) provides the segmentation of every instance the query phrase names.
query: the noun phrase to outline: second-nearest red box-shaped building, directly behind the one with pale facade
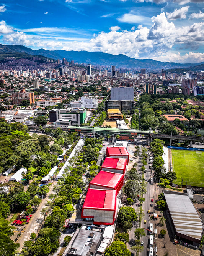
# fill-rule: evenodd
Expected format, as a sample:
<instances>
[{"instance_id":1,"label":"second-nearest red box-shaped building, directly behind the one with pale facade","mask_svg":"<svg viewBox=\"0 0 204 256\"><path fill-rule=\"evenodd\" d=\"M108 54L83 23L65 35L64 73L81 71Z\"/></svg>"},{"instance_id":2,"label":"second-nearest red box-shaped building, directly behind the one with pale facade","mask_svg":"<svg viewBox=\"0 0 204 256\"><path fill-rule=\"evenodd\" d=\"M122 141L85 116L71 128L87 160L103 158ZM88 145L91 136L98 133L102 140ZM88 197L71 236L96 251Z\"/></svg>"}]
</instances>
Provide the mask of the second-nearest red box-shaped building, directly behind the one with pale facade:
<instances>
[{"instance_id":1,"label":"second-nearest red box-shaped building, directly behind the one with pale facade","mask_svg":"<svg viewBox=\"0 0 204 256\"><path fill-rule=\"evenodd\" d=\"M124 182L124 174L100 171L89 183L89 188L121 190Z\"/></svg>"}]
</instances>

